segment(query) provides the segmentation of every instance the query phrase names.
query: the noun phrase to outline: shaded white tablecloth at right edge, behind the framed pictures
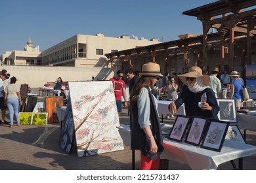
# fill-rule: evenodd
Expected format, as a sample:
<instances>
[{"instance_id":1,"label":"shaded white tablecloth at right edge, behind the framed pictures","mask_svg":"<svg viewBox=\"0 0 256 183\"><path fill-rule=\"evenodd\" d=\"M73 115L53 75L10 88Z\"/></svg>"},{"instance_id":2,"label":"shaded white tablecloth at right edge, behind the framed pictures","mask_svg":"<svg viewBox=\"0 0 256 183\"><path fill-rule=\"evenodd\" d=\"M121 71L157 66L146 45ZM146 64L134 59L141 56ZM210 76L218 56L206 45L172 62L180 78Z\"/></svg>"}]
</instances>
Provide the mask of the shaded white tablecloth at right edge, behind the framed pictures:
<instances>
[{"instance_id":1,"label":"shaded white tablecloth at right edge, behind the framed pictures","mask_svg":"<svg viewBox=\"0 0 256 183\"><path fill-rule=\"evenodd\" d=\"M237 114L238 127L240 129L253 130L256 129L256 116L249 114Z\"/></svg>"}]
</instances>

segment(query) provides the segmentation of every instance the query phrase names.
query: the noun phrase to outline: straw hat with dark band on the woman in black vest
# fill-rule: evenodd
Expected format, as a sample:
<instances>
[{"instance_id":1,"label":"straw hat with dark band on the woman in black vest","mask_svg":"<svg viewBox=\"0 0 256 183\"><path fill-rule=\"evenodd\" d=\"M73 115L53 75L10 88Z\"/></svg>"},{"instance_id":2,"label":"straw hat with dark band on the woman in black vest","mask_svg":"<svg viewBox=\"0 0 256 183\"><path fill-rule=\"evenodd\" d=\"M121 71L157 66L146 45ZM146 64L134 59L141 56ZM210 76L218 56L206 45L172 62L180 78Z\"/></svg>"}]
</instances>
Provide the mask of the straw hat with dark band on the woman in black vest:
<instances>
[{"instance_id":1,"label":"straw hat with dark band on the woman in black vest","mask_svg":"<svg viewBox=\"0 0 256 183\"><path fill-rule=\"evenodd\" d=\"M148 62L142 65L142 71L140 76L159 76L163 77L160 71L160 65L158 63Z\"/></svg>"}]
</instances>

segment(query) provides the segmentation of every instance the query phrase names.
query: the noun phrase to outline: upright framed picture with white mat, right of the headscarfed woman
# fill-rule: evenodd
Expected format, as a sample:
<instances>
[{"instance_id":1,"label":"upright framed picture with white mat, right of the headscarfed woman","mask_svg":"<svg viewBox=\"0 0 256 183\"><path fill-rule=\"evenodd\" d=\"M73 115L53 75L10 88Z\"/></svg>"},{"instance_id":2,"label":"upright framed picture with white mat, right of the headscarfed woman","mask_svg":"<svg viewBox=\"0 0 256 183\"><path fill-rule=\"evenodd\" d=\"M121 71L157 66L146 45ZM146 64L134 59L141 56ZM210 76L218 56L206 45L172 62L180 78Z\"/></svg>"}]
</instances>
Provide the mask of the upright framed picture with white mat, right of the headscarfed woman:
<instances>
[{"instance_id":1,"label":"upright framed picture with white mat, right of the headscarfed woman","mask_svg":"<svg viewBox=\"0 0 256 183\"><path fill-rule=\"evenodd\" d=\"M237 123L236 103L234 99L217 99L219 104L218 118L220 121Z\"/></svg>"}]
</instances>

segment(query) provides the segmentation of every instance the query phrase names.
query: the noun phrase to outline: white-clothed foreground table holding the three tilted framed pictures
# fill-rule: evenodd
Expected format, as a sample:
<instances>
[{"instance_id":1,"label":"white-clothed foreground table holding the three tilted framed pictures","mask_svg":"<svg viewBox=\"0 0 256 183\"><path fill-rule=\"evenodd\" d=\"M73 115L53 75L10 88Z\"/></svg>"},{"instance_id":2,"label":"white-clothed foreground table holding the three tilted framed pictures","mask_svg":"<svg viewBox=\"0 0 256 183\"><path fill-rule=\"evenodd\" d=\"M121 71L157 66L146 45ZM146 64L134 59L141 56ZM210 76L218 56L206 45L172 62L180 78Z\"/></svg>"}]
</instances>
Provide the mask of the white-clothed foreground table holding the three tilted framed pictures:
<instances>
[{"instance_id":1,"label":"white-clothed foreground table holding the three tilted framed pictures","mask_svg":"<svg viewBox=\"0 0 256 183\"><path fill-rule=\"evenodd\" d=\"M189 165L191 169L217 169L227 161L253 156L256 146L236 141L224 141L221 152L206 150L185 142L163 139L164 150L161 158L172 159Z\"/></svg>"}]
</instances>

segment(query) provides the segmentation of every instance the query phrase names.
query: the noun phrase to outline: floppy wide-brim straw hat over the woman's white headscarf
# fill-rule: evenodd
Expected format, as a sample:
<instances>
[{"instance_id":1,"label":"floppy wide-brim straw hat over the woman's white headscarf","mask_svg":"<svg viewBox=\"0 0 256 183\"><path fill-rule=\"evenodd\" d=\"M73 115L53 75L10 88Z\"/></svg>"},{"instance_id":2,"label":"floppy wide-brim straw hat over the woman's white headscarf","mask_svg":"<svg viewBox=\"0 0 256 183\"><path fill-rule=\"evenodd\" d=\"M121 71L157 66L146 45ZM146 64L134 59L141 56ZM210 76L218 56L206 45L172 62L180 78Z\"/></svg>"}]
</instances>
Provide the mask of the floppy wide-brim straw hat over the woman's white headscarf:
<instances>
[{"instance_id":1,"label":"floppy wide-brim straw hat over the woman's white headscarf","mask_svg":"<svg viewBox=\"0 0 256 183\"><path fill-rule=\"evenodd\" d=\"M186 80L186 77L189 78L202 78L203 84L205 86L209 86L210 84L210 76L209 75L202 75L202 69L198 66L190 67L188 73L184 75L178 75L178 78L186 85L188 86L188 81Z\"/></svg>"}]
</instances>

